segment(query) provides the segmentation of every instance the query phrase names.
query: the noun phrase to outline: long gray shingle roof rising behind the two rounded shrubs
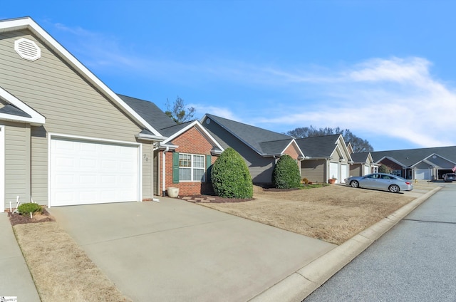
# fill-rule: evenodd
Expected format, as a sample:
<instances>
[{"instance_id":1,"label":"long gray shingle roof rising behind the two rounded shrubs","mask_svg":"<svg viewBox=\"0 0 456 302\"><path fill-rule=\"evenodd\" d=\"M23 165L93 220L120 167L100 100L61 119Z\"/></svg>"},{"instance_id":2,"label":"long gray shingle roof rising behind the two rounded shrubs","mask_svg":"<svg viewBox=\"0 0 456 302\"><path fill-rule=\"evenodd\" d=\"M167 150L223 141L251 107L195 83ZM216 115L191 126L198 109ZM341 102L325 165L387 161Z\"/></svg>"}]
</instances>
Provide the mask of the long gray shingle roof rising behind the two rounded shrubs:
<instances>
[{"instance_id":1,"label":"long gray shingle roof rising behind the two rounded shrubs","mask_svg":"<svg viewBox=\"0 0 456 302\"><path fill-rule=\"evenodd\" d=\"M227 118L220 118L216 115L206 114L206 117L219 124L262 156L281 154L293 140L293 137L289 135L228 120Z\"/></svg>"}]
</instances>

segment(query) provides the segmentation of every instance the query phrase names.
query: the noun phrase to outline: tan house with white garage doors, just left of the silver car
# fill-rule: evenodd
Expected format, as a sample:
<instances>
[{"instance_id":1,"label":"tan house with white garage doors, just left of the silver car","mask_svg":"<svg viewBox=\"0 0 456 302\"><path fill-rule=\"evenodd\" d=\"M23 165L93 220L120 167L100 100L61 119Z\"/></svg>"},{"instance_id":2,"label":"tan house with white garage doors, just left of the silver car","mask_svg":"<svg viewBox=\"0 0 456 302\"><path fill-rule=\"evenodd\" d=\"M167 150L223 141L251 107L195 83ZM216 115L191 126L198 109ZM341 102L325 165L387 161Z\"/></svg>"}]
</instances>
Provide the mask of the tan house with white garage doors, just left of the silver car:
<instances>
[{"instance_id":1,"label":"tan house with white garage doors, just left of the silver car","mask_svg":"<svg viewBox=\"0 0 456 302\"><path fill-rule=\"evenodd\" d=\"M301 161L302 178L310 182L336 179L336 183L341 183L350 175L353 161L342 135L298 138L296 142L306 155Z\"/></svg>"}]
</instances>

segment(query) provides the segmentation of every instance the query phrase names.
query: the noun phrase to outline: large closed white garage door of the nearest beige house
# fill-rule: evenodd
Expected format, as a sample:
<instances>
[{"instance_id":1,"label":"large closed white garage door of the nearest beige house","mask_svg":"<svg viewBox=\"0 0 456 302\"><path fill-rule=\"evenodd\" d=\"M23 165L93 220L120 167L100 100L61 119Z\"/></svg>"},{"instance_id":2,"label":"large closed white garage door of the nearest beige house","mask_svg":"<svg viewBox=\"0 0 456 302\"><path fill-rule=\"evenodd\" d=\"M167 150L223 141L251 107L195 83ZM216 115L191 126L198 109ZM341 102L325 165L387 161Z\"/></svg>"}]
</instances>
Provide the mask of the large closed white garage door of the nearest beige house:
<instances>
[{"instance_id":1,"label":"large closed white garage door of the nearest beige house","mask_svg":"<svg viewBox=\"0 0 456 302\"><path fill-rule=\"evenodd\" d=\"M138 145L51 139L50 205L139 199Z\"/></svg>"}]
</instances>

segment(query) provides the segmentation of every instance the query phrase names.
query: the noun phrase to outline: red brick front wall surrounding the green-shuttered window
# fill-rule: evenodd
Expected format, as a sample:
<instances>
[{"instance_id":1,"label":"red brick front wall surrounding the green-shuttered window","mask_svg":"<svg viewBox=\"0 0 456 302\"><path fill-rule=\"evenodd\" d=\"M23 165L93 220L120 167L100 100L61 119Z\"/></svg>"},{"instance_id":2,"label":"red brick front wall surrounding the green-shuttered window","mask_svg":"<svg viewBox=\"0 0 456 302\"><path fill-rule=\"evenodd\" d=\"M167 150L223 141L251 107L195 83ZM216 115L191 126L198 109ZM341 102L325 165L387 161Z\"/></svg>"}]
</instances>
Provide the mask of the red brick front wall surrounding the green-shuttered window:
<instances>
[{"instance_id":1,"label":"red brick front wall surrounding the green-shuttered window","mask_svg":"<svg viewBox=\"0 0 456 302\"><path fill-rule=\"evenodd\" d=\"M175 140L172 140L172 145L179 146L175 152L196 155L210 155L213 147L196 127L192 127L179 137L176 137ZM162 156L163 152L160 152L160 159ZM212 156L212 164L214 164L215 160L217 160L217 157ZM206 182L180 182L174 184L172 182L172 152L165 153L165 161L165 189L168 187L177 187L179 188L180 196L212 193L212 184ZM163 167L160 167L160 177L162 175L162 169ZM162 182L160 182L160 188L162 188Z\"/></svg>"}]
</instances>

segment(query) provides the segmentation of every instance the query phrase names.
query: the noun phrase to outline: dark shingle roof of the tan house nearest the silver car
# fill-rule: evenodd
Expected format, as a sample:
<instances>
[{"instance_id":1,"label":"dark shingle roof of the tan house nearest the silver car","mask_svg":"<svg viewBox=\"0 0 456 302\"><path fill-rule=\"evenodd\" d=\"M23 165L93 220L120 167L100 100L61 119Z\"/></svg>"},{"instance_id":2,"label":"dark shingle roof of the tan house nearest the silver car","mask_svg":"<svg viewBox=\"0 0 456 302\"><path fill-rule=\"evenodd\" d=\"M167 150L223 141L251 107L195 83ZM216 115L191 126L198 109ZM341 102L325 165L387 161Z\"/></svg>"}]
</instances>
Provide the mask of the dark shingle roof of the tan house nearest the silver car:
<instances>
[{"instance_id":1,"label":"dark shingle roof of the tan house nearest the silver car","mask_svg":"<svg viewBox=\"0 0 456 302\"><path fill-rule=\"evenodd\" d=\"M296 142L306 157L331 157L337 147L336 142L340 136L340 134L334 134L298 138Z\"/></svg>"}]
</instances>

